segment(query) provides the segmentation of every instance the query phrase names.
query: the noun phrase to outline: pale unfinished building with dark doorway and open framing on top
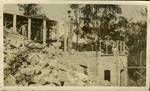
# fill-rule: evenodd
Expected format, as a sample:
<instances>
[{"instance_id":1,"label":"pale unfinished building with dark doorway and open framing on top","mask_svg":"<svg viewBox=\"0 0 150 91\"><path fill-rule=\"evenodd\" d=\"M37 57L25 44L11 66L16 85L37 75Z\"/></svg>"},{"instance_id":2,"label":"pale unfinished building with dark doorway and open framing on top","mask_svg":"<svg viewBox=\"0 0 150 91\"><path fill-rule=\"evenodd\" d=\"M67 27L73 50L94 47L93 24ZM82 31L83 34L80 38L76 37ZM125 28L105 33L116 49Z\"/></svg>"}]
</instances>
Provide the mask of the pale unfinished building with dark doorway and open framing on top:
<instances>
[{"instance_id":1,"label":"pale unfinished building with dark doorway and open framing on top","mask_svg":"<svg viewBox=\"0 0 150 91\"><path fill-rule=\"evenodd\" d=\"M124 41L100 41L100 50L78 52L69 55L78 69L96 80L98 86L127 86L128 65Z\"/></svg>"}]
</instances>

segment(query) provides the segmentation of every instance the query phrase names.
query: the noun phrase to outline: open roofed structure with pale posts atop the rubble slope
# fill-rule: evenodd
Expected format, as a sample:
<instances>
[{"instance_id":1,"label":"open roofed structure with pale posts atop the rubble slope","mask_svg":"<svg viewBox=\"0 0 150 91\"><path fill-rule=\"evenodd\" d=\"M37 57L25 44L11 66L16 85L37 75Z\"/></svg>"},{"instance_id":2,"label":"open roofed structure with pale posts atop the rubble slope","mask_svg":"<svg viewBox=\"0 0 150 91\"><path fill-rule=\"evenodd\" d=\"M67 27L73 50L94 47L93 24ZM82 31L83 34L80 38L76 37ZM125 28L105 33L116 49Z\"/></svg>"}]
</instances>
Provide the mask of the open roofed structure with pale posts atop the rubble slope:
<instances>
[{"instance_id":1,"label":"open roofed structure with pale posts atop the rubble slope","mask_svg":"<svg viewBox=\"0 0 150 91\"><path fill-rule=\"evenodd\" d=\"M53 27L57 24L55 20L50 20L47 17L27 16L6 12L3 13L3 21L4 27L12 27L12 30L17 32L21 25L27 24L26 37L30 40L34 40L33 37L36 36L38 31L38 39L40 40L40 43L43 44L49 42L50 32L52 29L54 29ZM54 32L56 40L56 31Z\"/></svg>"}]
</instances>

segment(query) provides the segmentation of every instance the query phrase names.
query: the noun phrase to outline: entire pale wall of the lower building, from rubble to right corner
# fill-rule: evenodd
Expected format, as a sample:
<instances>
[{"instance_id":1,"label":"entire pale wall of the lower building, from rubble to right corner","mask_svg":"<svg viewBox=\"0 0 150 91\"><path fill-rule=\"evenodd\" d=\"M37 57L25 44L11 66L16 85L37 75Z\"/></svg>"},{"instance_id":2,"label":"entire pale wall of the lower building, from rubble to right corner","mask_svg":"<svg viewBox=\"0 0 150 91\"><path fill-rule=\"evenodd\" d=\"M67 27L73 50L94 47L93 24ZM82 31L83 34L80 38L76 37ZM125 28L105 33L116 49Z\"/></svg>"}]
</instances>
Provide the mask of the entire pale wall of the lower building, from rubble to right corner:
<instances>
[{"instance_id":1,"label":"entire pale wall of the lower building, from rubble to right corner","mask_svg":"<svg viewBox=\"0 0 150 91\"><path fill-rule=\"evenodd\" d=\"M125 86L127 84L127 56L119 56L118 58L113 55L103 55L96 58L96 53L78 53L78 55L69 55L66 60L70 60L71 63L77 65L87 66L88 75L98 81L96 85L104 86L104 71L110 70L111 77L110 83L112 86ZM119 61L118 61L119 60ZM118 65L116 65L118 64ZM124 65L125 67L123 67ZM117 67L118 66L118 67ZM121 70L124 69L122 76L120 77ZM83 72L83 68L78 69ZM122 78L122 80L120 80ZM120 81L123 81L120 83Z\"/></svg>"}]
</instances>

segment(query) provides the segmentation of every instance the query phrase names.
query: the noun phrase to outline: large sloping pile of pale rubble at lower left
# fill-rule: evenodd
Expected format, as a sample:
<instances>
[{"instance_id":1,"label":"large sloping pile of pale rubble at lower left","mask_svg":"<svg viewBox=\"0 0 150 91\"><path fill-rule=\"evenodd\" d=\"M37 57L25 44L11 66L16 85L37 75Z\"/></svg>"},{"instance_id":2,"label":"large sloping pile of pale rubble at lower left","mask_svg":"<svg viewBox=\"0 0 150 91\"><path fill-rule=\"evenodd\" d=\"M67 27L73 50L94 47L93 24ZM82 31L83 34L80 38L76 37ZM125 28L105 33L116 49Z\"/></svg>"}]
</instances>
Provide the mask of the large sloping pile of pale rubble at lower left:
<instances>
[{"instance_id":1,"label":"large sloping pile of pale rubble at lower left","mask_svg":"<svg viewBox=\"0 0 150 91\"><path fill-rule=\"evenodd\" d=\"M63 60L63 52L4 32L4 84L7 86L87 86L94 82Z\"/></svg>"}]
</instances>

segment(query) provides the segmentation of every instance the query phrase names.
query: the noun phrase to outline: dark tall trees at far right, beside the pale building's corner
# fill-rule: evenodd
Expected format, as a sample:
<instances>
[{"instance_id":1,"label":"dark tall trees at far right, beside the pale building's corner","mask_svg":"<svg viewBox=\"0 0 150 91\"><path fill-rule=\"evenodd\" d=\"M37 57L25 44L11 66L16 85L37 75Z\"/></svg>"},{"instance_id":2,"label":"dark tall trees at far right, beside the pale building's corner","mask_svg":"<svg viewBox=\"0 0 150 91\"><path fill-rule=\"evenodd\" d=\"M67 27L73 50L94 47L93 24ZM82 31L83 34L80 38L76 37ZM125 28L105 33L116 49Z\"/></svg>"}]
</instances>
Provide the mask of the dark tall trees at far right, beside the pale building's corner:
<instances>
[{"instance_id":1,"label":"dark tall trees at far right, beside the pale building's corner","mask_svg":"<svg viewBox=\"0 0 150 91\"><path fill-rule=\"evenodd\" d=\"M145 86L147 10L139 11L139 14L143 19L136 22L130 21L126 32L128 38L126 44L129 48L128 67L139 68L129 69L128 73L129 81L132 80L136 86ZM129 83L129 85L133 84Z\"/></svg>"}]
</instances>

